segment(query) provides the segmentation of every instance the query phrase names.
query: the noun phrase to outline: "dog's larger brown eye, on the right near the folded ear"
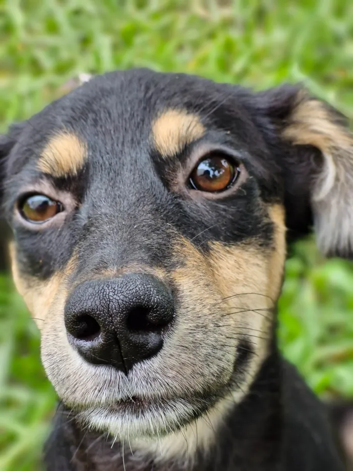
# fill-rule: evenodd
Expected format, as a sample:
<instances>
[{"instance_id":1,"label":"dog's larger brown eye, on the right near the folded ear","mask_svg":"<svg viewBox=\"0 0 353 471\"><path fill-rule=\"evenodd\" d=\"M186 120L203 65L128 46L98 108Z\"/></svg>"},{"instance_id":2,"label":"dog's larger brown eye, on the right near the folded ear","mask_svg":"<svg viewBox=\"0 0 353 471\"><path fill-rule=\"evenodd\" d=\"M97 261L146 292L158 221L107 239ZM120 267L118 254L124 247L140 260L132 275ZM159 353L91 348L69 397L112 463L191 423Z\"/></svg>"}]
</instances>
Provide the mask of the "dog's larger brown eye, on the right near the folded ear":
<instances>
[{"instance_id":1,"label":"dog's larger brown eye, on the right near the folded ear","mask_svg":"<svg viewBox=\"0 0 353 471\"><path fill-rule=\"evenodd\" d=\"M216 193L228 188L239 174L236 163L228 156L211 154L195 167L190 183L197 190Z\"/></svg>"}]
</instances>

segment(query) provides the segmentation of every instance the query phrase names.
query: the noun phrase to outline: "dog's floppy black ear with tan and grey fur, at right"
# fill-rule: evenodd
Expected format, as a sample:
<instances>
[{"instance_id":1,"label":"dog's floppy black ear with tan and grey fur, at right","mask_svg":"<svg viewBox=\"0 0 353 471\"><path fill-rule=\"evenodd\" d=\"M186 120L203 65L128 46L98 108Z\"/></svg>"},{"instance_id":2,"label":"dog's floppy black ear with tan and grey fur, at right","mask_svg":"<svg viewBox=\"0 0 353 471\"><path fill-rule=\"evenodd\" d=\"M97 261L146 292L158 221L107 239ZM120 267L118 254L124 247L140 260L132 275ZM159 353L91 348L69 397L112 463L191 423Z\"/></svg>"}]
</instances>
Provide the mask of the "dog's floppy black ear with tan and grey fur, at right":
<instances>
[{"instance_id":1,"label":"dog's floppy black ear with tan and grey fur, at right","mask_svg":"<svg viewBox=\"0 0 353 471\"><path fill-rule=\"evenodd\" d=\"M346 118L307 90L285 85L258 95L276 135L287 226L314 226L326 255L353 255L353 134Z\"/></svg>"}]
</instances>

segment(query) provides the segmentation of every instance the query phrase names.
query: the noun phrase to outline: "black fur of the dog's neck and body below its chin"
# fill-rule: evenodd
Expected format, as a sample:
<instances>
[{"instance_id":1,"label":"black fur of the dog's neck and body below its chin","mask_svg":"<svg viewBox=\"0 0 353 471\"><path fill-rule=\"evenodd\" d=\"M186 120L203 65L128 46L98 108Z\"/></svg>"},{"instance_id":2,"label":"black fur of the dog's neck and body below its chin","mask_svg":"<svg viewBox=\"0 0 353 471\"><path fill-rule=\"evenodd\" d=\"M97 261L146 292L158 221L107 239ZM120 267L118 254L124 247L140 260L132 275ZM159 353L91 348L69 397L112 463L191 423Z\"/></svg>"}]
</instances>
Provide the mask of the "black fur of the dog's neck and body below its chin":
<instances>
[{"instance_id":1,"label":"black fur of the dog's neck and body below its chin","mask_svg":"<svg viewBox=\"0 0 353 471\"><path fill-rule=\"evenodd\" d=\"M123 450L104 434L80 430L61 404L45 462L50 471L343 470L322 405L277 352L216 433L215 445L207 455L199 453L191 467L156 464L152 457L134 458L127 444Z\"/></svg>"}]
</instances>

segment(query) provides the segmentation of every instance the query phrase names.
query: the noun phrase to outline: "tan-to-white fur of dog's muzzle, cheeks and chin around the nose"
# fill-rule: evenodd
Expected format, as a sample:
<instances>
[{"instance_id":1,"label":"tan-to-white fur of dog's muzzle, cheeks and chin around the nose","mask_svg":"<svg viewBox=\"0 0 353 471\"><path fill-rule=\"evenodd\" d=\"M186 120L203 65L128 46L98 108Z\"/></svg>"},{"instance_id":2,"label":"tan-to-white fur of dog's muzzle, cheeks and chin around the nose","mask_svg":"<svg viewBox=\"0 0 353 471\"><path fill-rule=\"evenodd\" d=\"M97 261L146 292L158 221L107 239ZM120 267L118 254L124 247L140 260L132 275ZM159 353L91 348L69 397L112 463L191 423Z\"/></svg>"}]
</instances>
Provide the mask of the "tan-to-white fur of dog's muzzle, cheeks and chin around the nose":
<instances>
[{"instance_id":1,"label":"tan-to-white fur of dog's muzzle, cheeks and chin around the nose","mask_svg":"<svg viewBox=\"0 0 353 471\"><path fill-rule=\"evenodd\" d=\"M128 377L103 365L87 363L68 342L64 323L67 274L75 268L76 255L62 274L43 285L30 285L13 262L18 289L33 315L44 320L41 353L46 373L69 406L84 406L80 412L83 424L131 440L141 453L160 456L162 447L161 460L188 460L197 446L209 448L214 429L227 408L233 401L241 401L267 355L272 298L279 293L281 277L277 272L281 273L284 264L285 230L281 206L265 211L274 224L273 248L264 250L257 240L232 246L213 242L210 253L205 255L180 236L173 248L179 268L171 273L138 266L104 272L104 276L111 277L146 270L165 283L171 279L177 288L178 311L172 335L165 338L161 354L134 365ZM14 253L12 258L16 260ZM188 395L205 389L218 391L228 383L241 337L251 341L256 355L237 388L229 391L229 397L181 432L161 437L160 441L146 438L158 435L165 425L175 430L183 417L193 413L185 400ZM110 406L134 395L155 400L156 409L141 412L138 417L128 412L114 416L109 411ZM158 409L159 401L165 397L175 398L173 406Z\"/></svg>"}]
</instances>

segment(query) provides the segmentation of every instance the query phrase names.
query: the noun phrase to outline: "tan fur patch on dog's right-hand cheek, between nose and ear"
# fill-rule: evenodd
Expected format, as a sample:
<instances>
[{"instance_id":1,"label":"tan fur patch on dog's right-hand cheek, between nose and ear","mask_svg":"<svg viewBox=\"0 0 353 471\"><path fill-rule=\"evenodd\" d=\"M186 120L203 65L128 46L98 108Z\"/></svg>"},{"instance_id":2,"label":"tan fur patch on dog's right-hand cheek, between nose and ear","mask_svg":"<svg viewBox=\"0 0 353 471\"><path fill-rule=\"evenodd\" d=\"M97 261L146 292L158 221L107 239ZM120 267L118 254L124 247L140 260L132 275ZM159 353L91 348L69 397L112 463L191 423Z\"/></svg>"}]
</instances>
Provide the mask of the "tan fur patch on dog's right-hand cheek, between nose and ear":
<instances>
[{"instance_id":1,"label":"tan fur patch on dog's right-hand cheek, between nose and ear","mask_svg":"<svg viewBox=\"0 0 353 471\"><path fill-rule=\"evenodd\" d=\"M274 208L273 214L274 219L279 219L280 208ZM280 229L278 233L281 234ZM215 319L216 324L226 324L224 335L234 345L240 336L249 336L256 351L246 380L250 384L268 354L273 308L281 281L280 274L273 275L273 280L269 275L272 276L272 269L279 269L284 251L276 254L276 249L264 250L253 239L237 245L210 243L208 255L186 241L175 254L185 258L185 266L173 272L172 278L186 293L182 309L191 312L191 319L201 312L205 327L208 323L214 325ZM207 341L219 344L217 329Z\"/></svg>"}]
</instances>

